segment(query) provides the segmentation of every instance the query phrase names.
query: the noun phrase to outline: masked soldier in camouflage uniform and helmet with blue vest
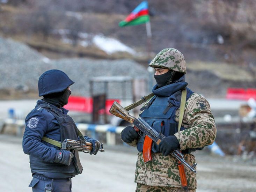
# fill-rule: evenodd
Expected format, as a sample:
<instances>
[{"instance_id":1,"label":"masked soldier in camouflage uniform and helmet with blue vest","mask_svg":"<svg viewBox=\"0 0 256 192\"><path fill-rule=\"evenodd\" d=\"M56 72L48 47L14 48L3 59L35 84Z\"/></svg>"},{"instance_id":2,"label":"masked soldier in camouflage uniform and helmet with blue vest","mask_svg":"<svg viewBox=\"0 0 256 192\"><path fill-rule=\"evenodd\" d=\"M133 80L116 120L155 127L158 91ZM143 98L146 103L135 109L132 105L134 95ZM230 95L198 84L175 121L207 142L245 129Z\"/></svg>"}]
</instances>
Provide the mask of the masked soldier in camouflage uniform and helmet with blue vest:
<instances>
[{"instance_id":1,"label":"masked soldier in camouflage uniform and helmet with blue vest","mask_svg":"<svg viewBox=\"0 0 256 192\"><path fill-rule=\"evenodd\" d=\"M144 163L142 148L145 136L141 136L132 126L121 133L124 142L137 146L139 151L136 163L135 182L137 192L184 191L178 170L178 160L170 153L180 149L185 161L192 166L196 160L191 152L211 145L216 136L216 126L209 102L194 93L185 82L186 66L183 54L173 48L160 51L149 66L155 69L156 85L152 92L155 96L141 108L140 117L155 130L163 133L161 143L152 145L152 161ZM181 92L186 89L186 103L180 132ZM188 191L196 191L196 174L185 168Z\"/></svg>"}]
</instances>

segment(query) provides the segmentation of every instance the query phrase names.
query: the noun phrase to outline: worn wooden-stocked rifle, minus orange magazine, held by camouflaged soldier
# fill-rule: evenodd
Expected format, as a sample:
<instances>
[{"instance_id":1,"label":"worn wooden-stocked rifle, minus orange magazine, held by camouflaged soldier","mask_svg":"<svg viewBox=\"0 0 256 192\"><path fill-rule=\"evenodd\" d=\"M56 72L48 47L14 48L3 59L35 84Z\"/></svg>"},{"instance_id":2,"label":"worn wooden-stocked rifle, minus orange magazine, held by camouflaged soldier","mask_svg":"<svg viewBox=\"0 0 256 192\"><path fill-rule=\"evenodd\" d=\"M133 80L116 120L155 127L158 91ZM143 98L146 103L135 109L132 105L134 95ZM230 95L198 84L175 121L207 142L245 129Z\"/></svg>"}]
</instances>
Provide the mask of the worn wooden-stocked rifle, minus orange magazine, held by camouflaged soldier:
<instances>
[{"instance_id":1,"label":"worn wooden-stocked rifle, minus orange magazine, held by camouflaged soldier","mask_svg":"<svg viewBox=\"0 0 256 192\"><path fill-rule=\"evenodd\" d=\"M157 145L159 145L159 143L166 137L162 133L158 133L141 117L135 118L129 115L129 113L116 101L112 104L109 112L117 117L128 121L129 123L132 123L136 131L140 130L143 134L151 138ZM151 151L148 153L151 156ZM179 150L174 150L173 152L171 152L171 155L177 158L186 168L196 173L195 167L197 164L194 163L191 167L187 162L185 162L184 155Z\"/></svg>"}]
</instances>

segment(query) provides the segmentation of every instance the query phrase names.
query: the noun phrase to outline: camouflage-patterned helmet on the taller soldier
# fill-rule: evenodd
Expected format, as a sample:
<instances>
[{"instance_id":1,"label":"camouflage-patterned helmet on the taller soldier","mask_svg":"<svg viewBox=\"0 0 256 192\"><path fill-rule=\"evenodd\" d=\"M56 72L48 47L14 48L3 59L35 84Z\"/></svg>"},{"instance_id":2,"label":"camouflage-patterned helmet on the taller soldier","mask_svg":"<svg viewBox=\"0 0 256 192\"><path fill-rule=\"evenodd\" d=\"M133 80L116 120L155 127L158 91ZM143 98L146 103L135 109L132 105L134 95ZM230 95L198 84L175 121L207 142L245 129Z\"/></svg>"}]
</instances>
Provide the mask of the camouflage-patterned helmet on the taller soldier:
<instances>
[{"instance_id":1,"label":"camouflage-patterned helmet on the taller soldier","mask_svg":"<svg viewBox=\"0 0 256 192\"><path fill-rule=\"evenodd\" d=\"M148 65L155 68L166 68L186 74L186 61L183 54L174 48L160 51Z\"/></svg>"}]
</instances>

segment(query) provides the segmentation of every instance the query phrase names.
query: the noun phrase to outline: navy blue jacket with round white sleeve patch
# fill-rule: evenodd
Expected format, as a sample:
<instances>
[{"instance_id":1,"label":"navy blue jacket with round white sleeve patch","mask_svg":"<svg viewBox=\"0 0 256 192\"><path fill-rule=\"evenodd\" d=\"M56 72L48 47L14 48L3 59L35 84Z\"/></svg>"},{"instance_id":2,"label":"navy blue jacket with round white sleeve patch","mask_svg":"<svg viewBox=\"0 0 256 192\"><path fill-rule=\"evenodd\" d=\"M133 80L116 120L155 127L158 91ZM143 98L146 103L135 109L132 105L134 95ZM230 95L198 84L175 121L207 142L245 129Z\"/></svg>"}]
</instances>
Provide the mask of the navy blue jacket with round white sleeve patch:
<instances>
[{"instance_id":1,"label":"navy blue jacket with round white sleeve patch","mask_svg":"<svg viewBox=\"0 0 256 192\"><path fill-rule=\"evenodd\" d=\"M43 136L45 136L47 138L61 142L61 133L60 126L56 118L46 109L38 107L38 105L41 103L45 102L43 100L38 100L35 109L33 109L25 119L26 127L22 142L23 151L25 154L30 155L30 165L33 164L33 166L35 166L39 159L40 161L53 163L54 165L56 165L56 167L67 166L54 163L54 159L56 158L56 153L59 148L51 145L50 143L42 141ZM59 109L56 106L53 106L53 108L61 111L64 114L67 114L68 112L68 110L64 108ZM38 163L40 161L38 161ZM42 169L41 167L42 165L38 165L38 168ZM69 172L64 171L63 173L57 174L56 176L56 174L54 175L54 172L59 171L54 171L54 169L52 171L49 171L47 170L47 168L45 169L46 173L44 173L44 170L42 170L42 172L40 173L52 178L67 177L67 175L74 176L74 174L72 174L70 170ZM57 170L62 169L58 168ZM35 173L38 171L34 171L31 166L31 172Z\"/></svg>"}]
</instances>

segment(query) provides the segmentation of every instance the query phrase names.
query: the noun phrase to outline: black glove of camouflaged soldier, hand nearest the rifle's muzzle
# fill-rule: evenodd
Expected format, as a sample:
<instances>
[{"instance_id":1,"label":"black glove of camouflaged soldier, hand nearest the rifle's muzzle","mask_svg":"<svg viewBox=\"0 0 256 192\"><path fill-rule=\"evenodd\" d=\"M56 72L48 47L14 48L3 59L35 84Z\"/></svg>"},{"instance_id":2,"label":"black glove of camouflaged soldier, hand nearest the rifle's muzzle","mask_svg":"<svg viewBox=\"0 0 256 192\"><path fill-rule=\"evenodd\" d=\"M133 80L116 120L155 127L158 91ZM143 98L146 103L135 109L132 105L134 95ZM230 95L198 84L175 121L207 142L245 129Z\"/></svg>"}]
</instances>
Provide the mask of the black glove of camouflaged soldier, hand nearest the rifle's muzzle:
<instances>
[{"instance_id":1,"label":"black glove of camouflaged soldier, hand nearest the rifle's muzzle","mask_svg":"<svg viewBox=\"0 0 256 192\"><path fill-rule=\"evenodd\" d=\"M180 148L180 143L178 141L178 139L176 138L176 136L171 135L171 136L167 136L166 138L164 138L160 143L159 143L159 149L160 152L164 155L167 156L169 155L172 151L174 151L175 149L179 149Z\"/></svg>"}]
</instances>

